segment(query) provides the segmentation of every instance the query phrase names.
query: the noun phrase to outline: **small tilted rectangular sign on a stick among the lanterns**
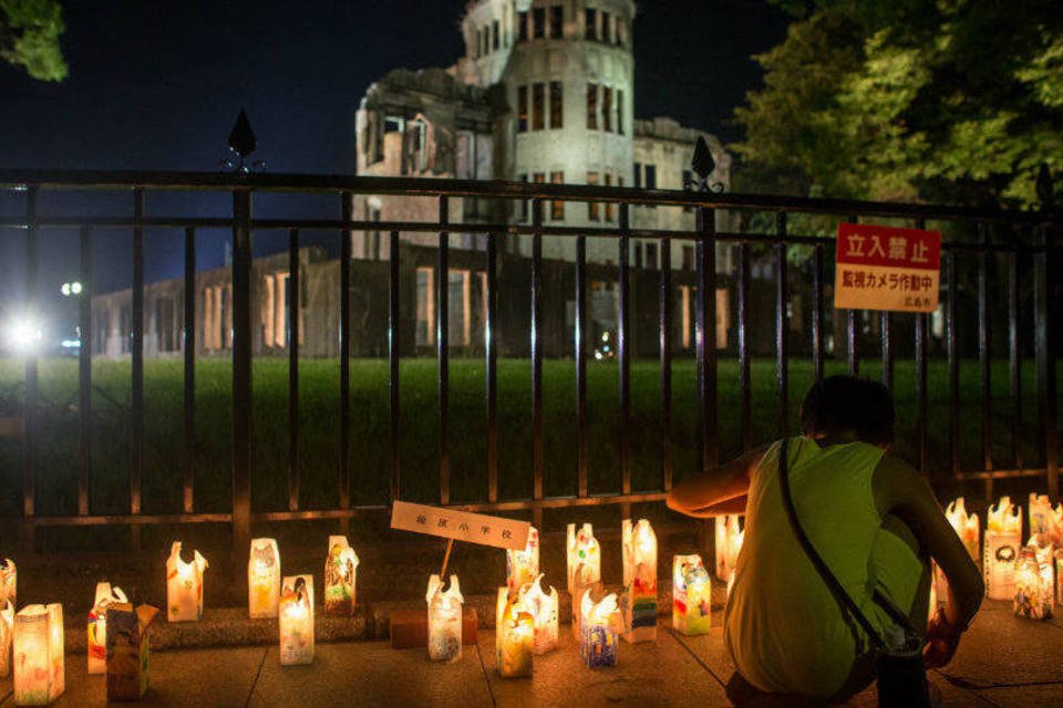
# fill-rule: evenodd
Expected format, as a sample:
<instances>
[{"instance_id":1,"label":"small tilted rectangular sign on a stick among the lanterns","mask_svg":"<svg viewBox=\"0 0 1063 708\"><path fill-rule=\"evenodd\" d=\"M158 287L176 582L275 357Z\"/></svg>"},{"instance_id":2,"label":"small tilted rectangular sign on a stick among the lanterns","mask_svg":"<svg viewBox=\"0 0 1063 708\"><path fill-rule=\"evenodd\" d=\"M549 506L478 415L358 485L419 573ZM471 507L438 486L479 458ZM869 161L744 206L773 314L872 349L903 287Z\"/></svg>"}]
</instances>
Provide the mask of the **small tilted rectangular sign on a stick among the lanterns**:
<instances>
[{"instance_id":1,"label":"small tilted rectangular sign on a stick among the lanterns","mask_svg":"<svg viewBox=\"0 0 1063 708\"><path fill-rule=\"evenodd\" d=\"M407 501L396 501L391 511L392 529L515 551L524 550L530 527L527 521L440 509Z\"/></svg>"}]
</instances>

